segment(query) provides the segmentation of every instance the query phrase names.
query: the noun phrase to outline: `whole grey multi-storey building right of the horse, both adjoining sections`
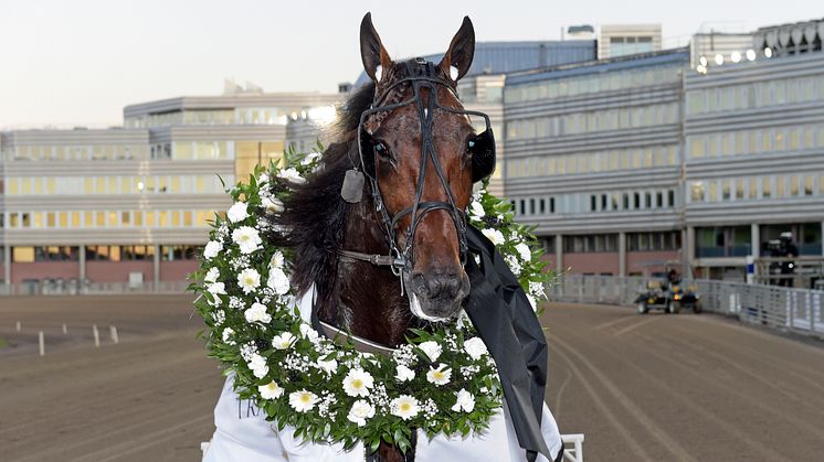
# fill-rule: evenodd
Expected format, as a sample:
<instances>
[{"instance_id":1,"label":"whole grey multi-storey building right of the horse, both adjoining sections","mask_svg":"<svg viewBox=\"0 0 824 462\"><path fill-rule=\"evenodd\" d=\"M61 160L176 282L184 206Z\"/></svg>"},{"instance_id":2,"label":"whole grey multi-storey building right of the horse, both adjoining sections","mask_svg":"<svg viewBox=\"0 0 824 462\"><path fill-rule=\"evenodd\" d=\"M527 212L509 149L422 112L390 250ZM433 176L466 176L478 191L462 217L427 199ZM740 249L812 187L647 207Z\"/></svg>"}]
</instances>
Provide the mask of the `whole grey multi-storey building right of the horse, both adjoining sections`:
<instances>
[{"instance_id":1,"label":"whole grey multi-storey building right of the horse, both adjoining sections","mask_svg":"<svg viewBox=\"0 0 824 462\"><path fill-rule=\"evenodd\" d=\"M822 23L508 74L506 194L556 267L743 280L786 232L821 258Z\"/></svg>"}]
</instances>

